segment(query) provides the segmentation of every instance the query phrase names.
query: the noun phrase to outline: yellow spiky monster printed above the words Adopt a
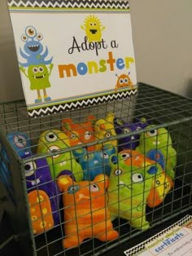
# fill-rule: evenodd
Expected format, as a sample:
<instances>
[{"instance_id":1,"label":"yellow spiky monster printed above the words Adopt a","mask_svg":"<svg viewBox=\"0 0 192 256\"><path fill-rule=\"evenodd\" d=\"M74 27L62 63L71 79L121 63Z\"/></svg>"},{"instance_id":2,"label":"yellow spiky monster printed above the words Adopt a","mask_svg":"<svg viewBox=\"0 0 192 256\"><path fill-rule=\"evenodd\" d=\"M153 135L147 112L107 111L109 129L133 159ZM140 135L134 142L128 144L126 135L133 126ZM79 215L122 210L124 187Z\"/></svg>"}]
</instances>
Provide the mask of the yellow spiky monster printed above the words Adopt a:
<instances>
[{"instance_id":1,"label":"yellow spiky monster printed above the words Adopt a","mask_svg":"<svg viewBox=\"0 0 192 256\"><path fill-rule=\"evenodd\" d=\"M95 15L87 16L84 25L81 25L81 29L85 30L89 42L102 41L102 31L105 27Z\"/></svg>"}]
</instances>

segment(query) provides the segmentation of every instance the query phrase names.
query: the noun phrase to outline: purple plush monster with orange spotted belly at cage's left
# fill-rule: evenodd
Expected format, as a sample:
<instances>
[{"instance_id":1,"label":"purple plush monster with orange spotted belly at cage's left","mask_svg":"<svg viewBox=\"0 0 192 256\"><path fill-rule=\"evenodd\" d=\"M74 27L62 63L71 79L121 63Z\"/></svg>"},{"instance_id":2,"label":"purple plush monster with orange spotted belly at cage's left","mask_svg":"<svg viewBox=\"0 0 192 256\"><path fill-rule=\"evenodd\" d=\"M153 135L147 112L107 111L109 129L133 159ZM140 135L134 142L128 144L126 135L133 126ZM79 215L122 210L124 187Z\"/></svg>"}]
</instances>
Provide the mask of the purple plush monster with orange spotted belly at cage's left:
<instances>
[{"instance_id":1,"label":"purple plush monster with orange spotted belly at cage's left","mask_svg":"<svg viewBox=\"0 0 192 256\"><path fill-rule=\"evenodd\" d=\"M24 165L24 170L33 232L43 232L44 228L47 230L59 224L59 188L51 177L46 159L28 161Z\"/></svg>"}]
</instances>

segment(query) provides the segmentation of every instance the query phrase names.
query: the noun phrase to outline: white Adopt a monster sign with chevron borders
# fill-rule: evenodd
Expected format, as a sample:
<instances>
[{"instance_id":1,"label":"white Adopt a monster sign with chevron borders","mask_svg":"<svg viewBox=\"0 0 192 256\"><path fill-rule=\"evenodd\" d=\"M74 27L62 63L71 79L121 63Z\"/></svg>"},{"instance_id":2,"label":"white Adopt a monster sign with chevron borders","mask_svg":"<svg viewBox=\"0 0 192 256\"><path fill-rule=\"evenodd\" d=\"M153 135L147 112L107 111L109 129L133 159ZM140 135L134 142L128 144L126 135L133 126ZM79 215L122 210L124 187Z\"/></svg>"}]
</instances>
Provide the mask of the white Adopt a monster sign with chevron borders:
<instances>
[{"instance_id":1,"label":"white Adopt a monster sign with chevron borders","mask_svg":"<svg viewBox=\"0 0 192 256\"><path fill-rule=\"evenodd\" d=\"M30 117L137 93L128 0L7 2Z\"/></svg>"}]
</instances>

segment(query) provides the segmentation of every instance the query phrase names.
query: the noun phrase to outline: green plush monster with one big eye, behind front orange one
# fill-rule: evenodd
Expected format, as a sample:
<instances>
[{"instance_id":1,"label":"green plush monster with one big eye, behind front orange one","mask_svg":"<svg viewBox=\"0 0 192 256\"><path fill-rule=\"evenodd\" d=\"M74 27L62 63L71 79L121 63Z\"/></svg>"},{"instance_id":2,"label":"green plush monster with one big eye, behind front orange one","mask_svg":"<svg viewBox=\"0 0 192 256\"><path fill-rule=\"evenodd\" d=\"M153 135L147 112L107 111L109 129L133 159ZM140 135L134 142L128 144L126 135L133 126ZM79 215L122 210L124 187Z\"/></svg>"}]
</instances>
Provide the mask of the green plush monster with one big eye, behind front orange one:
<instances>
[{"instance_id":1,"label":"green plush monster with one big eye, behind front orange one","mask_svg":"<svg viewBox=\"0 0 192 256\"><path fill-rule=\"evenodd\" d=\"M61 152L68 148L66 152ZM53 179L56 179L63 170L71 170L76 181L83 180L83 170L81 165L73 156L72 150L69 148L68 136L61 130L46 130L38 141L37 154L50 153L50 157L46 157L50 166L50 173Z\"/></svg>"}]
</instances>

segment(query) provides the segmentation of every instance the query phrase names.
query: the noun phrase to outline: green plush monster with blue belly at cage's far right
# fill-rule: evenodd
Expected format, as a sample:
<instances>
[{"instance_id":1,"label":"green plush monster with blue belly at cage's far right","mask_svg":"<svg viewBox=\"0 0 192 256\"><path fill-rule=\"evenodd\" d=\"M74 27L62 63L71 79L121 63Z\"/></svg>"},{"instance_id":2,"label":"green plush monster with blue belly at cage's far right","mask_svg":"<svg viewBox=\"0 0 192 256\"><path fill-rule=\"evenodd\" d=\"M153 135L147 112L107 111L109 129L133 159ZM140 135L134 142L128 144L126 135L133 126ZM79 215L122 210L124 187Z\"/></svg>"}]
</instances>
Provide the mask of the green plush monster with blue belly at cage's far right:
<instances>
[{"instance_id":1,"label":"green plush monster with blue belly at cage's far right","mask_svg":"<svg viewBox=\"0 0 192 256\"><path fill-rule=\"evenodd\" d=\"M141 134L138 152L159 163L169 178L174 179L177 152L172 148L172 138L165 128L155 129L155 126L147 126L151 130Z\"/></svg>"}]
</instances>

